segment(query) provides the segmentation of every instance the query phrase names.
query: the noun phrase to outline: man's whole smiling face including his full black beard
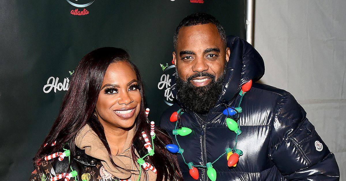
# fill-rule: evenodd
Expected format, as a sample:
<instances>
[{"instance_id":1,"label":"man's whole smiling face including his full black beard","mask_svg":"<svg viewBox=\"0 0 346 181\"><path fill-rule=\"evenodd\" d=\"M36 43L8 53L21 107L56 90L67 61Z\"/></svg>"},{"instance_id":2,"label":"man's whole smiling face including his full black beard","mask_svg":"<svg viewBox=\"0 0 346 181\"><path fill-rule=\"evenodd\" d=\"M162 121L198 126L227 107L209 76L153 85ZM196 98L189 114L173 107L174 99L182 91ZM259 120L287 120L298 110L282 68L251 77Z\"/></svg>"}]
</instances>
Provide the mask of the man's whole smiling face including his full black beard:
<instances>
[{"instance_id":1,"label":"man's whole smiling face including his full black beard","mask_svg":"<svg viewBox=\"0 0 346 181\"><path fill-rule=\"evenodd\" d=\"M222 90L229 54L214 24L179 30L173 58L177 96L181 103L201 114L215 105Z\"/></svg>"}]
</instances>

